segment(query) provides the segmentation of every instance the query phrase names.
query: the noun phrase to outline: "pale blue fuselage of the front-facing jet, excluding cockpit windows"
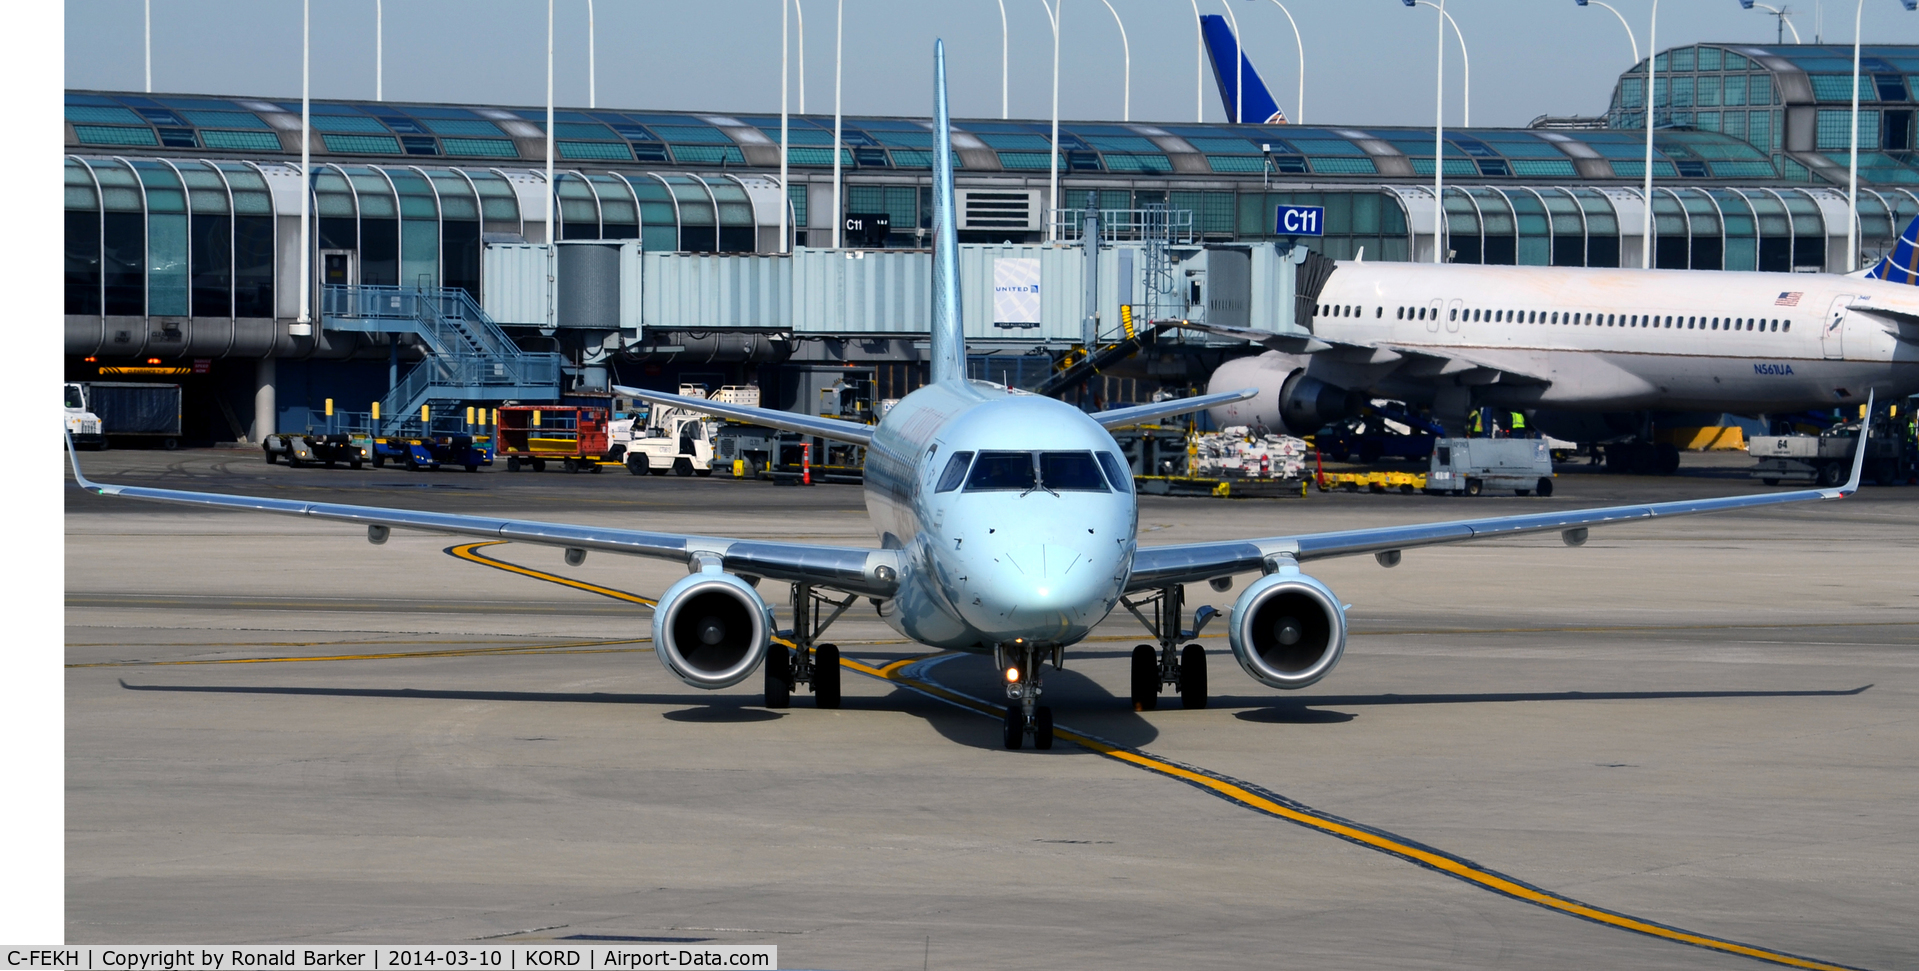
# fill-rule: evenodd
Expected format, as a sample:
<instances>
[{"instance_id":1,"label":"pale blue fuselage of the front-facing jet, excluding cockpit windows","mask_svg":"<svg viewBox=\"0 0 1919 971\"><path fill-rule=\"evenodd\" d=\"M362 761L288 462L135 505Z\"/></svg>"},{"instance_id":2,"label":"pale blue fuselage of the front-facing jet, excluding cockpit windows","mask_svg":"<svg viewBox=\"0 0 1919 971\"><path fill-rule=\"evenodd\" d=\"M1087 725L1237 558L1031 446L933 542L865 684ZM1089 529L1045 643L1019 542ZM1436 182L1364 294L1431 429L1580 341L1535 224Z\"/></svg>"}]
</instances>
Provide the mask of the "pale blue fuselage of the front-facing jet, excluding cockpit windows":
<instances>
[{"instance_id":1,"label":"pale blue fuselage of the front-facing jet, excluding cockpit windows","mask_svg":"<svg viewBox=\"0 0 1919 971\"><path fill-rule=\"evenodd\" d=\"M881 616L956 651L1071 645L1105 620L1132 572L1138 507L1119 491L935 491L960 451L1111 451L1078 409L981 382L933 384L892 407L865 455L881 545L906 551Z\"/></svg>"}]
</instances>

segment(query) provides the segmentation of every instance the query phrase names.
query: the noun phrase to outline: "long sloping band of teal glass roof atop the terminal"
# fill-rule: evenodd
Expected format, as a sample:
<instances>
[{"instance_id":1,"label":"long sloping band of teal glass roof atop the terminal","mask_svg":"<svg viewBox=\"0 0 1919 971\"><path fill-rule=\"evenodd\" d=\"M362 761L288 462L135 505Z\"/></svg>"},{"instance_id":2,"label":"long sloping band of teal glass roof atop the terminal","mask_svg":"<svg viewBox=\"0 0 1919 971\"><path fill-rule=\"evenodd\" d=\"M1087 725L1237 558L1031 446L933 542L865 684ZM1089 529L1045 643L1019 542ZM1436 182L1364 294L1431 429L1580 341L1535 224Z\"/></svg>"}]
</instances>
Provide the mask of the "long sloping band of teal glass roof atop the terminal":
<instances>
[{"instance_id":1,"label":"long sloping band of teal glass roof atop the terminal","mask_svg":"<svg viewBox=\"0 0 1919 971\"><path fill-rule=\"evenodd\" d=\"M1913 54L1911 48L1896 50ZM1913 58L1900 58L1906 59ZM299 152L299 102L67 92L65 117L73 129L69 146L81 150L278 157ZM1046 121L960 119L956 163L965 171L1044 173L1050 129ZM313 102L313 130L315 155L541 161L545 154L545 111L537 107ZM568 163L779 167L777 115L570 107L555 111L553 134L557 157ZM1771 154L1727 132L1662 130L1656 146L1654 175L1662 178L1783 177ZM931 169L931 148L925 121L842 121L841 165L850 169ZM793 115L787 152L789 165L831 167L833 119ZM1445 146L1447 175L1474 178L1641 178L1643 167L1645 144L1620 130L1449 130ZM1376 182L1430 177L1433 144L1428 129L1063 121L1059 169L1128 177L1272 173Z\"/></svg>"}]
</instances>

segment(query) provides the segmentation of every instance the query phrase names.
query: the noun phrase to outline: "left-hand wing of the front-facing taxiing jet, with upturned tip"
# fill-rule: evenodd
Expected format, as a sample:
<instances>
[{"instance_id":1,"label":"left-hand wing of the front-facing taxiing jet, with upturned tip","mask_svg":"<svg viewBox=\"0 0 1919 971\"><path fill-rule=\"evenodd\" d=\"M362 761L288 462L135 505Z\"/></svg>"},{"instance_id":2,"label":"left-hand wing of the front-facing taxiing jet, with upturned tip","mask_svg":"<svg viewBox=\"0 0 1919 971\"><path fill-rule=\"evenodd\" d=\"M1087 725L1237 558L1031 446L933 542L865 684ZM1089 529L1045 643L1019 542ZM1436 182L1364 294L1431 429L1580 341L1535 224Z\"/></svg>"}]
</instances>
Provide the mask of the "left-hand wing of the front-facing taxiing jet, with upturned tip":
<instances>
[{"instance_id":1,"label":"left-hand wing of the front-facing taxiing jet, with upturned tip","mask_svg":"<svg viewBox=\"0 0 1919 971\"><path fill-rule=\"evenodd\" d=\"M73 478L90 493L349 522L365 526L367 537L374 543L386 541L386 530L420 530L430 533L474 535L545 547L626 553L631 557L674 560L687 566L718 558L720 566L729 574L764 576L789 581L796 580L848 593L860 593L864 597L892 597L900 576L898 553L890 549L819 547L766 539L727 539L718 535L616 530L608 526L568 526L562 522L464 516L455 512L424 512L413 509L305 503L299 499L154 489L146 486L109 486L94 482L81 472L81 457L73 451L71 438L67 439L67 455L73 459Z\"/></svg>"}]
</instances>

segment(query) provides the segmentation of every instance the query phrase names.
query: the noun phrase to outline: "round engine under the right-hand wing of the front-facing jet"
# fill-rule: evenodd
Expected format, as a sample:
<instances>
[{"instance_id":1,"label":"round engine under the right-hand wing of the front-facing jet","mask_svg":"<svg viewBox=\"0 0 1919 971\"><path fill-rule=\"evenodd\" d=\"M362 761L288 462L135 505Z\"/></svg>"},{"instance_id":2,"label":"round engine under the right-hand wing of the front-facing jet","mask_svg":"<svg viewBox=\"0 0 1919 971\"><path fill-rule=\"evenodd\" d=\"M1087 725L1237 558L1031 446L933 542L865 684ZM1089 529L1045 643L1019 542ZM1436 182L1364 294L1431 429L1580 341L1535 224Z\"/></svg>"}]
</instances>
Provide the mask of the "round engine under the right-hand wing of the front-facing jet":
<instances>
[{"instance_id":1,"label":"round engine under the right-hand wing of the front-facing jet","mask_svg":"<svg viewBox=\"0 0 1919 971\"><path fill-rule=\"evenodd\" d=\"M1226 624L1232 656L1267 687L1307 687L1345 652L1345 608L1324 583L1299 570L1255 580Z\"/></svg>"}]
</instances>

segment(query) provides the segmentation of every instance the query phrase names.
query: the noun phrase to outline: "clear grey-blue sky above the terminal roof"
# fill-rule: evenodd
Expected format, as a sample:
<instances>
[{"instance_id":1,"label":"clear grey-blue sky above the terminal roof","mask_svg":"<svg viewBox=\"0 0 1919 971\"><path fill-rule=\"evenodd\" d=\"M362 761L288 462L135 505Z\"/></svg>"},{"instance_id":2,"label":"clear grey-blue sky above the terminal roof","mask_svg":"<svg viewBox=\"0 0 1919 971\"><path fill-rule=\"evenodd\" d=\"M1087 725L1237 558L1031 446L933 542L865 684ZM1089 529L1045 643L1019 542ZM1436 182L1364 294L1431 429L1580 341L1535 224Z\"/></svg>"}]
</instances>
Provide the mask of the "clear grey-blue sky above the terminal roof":
<instances>
[{"instance_id":1,"label":"clear grey-blue sky above the terminal roof","mask_svg":"<svg viewBox=\"0 0 1919 971\"><path fill-rule=\"evenodd\" d=\"M1040 0L1004 0L1013 117L1050 115L1052 29ZM1103 0L1061 0L1059 113L1119 119L1125 61ZM1201 0L1219 13L1226 0ZM1647 46L1650 0L1610 0ZM833 111L831 0L800 0L806 17L806 109ZM1192 0L1111 0L1132 44L1132 119L1194 117ZM1305 35L1305 121L1430 125L1433 21L1401 0L1291 0ZM1779 6L1779 4L1775 4ZM1852 40L1842 0L1792 2L1808 42ZM1232 0L1253 65L1280 106L1297 104L1299 56L1272 0ZM69 0L69 88L140 90L142 2ZM844 111L927 115L933 38L944 36L954 113L1000 115L998 0L844 0ZM1535 115L1595 115L1631 65L1620 21L1574 0L1449 0L1472 58L1474 125ZM545 13L539 0L386 0L386 98L535 106L545 102ZM777 0L597 0L601 107L779 109ZM555 4L555 98L587 104L587 2ZM1666 0L1660 48L1771 42L1775 21L1737 0ZM1919 13L1865 0L1867 42L1919 44ZM798 29L794 25L794 50ZM1447 123L1460 123L1460 61L1447 38ZM798 63L793 63L794 79ZM299 4L294 0L154 0L154 90L299 96ZM372 98L374 0L313 4L315 98ZM793 88L798 109L798 81ZM1222 119L1211 69L1205 113Z\"/></svg>"}]
</instances>

